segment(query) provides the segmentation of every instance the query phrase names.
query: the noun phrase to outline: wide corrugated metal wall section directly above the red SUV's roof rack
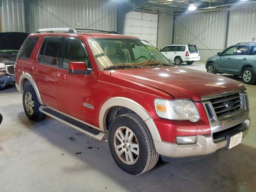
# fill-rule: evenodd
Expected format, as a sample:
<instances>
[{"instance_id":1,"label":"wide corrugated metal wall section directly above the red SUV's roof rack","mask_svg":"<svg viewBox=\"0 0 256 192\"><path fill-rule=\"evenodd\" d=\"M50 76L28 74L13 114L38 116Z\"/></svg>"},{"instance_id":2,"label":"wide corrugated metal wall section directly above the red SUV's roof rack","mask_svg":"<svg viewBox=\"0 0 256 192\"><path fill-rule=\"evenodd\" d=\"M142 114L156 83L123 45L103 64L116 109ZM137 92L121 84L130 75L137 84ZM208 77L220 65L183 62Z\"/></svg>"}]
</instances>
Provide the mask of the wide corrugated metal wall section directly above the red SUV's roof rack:
<instances>
[{"instance_id":1,"label":"wide corrugated metal wall section directly above the red SUV's roof rack","mask_svg":"<svg viewBox=\"0 0 256 192\"><path fill-rule=\"evenodd\" d=\"M34 30L72 27L116 30L116 2L106 0L36 0ZM76 23L80 23L77 26Z\"/></svg>"}]
</instances>

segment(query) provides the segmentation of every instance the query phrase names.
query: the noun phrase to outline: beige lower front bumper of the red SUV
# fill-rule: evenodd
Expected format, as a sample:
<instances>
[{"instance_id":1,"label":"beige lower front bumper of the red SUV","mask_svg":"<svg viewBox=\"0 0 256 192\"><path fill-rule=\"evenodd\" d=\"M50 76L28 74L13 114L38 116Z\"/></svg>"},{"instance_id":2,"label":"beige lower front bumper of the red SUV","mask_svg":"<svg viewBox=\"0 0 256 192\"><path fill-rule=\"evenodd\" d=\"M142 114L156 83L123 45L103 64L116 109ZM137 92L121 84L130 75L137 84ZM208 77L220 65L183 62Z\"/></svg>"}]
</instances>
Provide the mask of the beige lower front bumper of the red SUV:
<instances>
[{"instance_id":1,"label":"beige lower front bumper of the red SUV","mask_svg":"<svg viewBox=\"0 0 256 192\"><path fill-rule=\"evenodd\" d=\"M250 118L245 120L242 124L236 127L236 131L241 130L243 137L246 136L250 128ZM234 130L232 130L234 131ZM156 152L161 156L179 158L190 156L203 156L216 152L220 148L227 145L227 140L222 139L214 142L212 135L198 135L198 142L196 144L178 145L168 142L154 141Z\"/></svg>"}]
</instances>

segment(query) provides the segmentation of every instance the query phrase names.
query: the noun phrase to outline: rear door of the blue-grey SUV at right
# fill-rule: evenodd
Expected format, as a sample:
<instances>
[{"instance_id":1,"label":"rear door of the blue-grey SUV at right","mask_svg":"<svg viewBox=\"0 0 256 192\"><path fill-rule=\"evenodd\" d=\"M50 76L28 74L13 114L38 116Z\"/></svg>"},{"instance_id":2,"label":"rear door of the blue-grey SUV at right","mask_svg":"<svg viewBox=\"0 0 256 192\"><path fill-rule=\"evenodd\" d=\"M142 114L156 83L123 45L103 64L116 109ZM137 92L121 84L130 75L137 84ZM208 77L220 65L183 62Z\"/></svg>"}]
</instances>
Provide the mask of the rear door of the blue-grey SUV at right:
<instances>
[{"instance_id":1,"label":"rear door of the blue-grey SUV at right","mask_svg":"<svg viewBox=\"0 0 256 192\"><path fill-rule=\"evenodd\" d=\"M240 69L248 61L250 46L240 45L230 60L230 71L240 74Z\"/></svg>"}]
</instances>

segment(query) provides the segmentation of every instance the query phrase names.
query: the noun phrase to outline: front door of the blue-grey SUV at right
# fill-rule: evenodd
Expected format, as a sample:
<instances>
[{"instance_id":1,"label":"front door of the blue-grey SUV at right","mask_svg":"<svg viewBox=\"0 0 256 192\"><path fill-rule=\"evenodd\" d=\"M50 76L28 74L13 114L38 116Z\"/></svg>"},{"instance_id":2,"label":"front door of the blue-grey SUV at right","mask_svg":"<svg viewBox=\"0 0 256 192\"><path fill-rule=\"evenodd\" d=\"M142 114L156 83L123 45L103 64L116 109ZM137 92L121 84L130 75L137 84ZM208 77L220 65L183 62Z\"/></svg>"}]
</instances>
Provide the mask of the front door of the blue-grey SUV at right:
<instances>
[{"instance_id":1,"label":"front door of the blue-grey SUV at right","mask_svg":"<svg viewBox=\"0 0 256 192\"><path fill-rule=\"evenodd\" d=\"M216 68L219 72L230 72L231 59L237 46L232 46L224 50L216 61Z\"/></svg>"}]
</instances>

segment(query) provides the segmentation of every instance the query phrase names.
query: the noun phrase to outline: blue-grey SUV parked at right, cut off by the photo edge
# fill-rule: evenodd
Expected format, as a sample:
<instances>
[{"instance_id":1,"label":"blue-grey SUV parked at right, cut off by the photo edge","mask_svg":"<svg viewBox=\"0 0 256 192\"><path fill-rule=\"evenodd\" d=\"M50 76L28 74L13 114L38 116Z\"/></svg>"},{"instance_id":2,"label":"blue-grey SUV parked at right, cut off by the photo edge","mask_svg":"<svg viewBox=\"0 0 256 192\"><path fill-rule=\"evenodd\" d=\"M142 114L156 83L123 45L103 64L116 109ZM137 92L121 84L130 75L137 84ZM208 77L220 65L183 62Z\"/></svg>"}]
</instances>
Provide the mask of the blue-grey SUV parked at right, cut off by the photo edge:
<instances>
[{"instance_id":1,"label":"blue-grey SUV parked at right, cut off by the photo edge","mask_svg":"<svg viewBox=\"0 0 256 192\"><path fill-rule=\"evenodd\" d=\"M238 43L206 60L209 73L242 76L245 84L256 82L256 43Z\"/></svg>"}]
</instances>

